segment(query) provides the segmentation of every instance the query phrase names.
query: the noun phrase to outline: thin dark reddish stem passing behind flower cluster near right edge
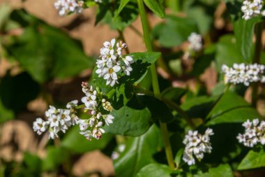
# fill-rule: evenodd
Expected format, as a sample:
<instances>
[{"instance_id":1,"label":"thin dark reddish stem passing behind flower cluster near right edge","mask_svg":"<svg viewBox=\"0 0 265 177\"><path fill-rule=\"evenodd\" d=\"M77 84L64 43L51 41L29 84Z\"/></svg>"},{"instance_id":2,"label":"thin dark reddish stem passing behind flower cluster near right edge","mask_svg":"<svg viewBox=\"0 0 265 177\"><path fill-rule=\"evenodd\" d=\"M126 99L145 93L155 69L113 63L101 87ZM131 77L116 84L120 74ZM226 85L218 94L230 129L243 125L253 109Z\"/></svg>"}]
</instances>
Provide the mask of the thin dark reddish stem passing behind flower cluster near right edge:
<instances>
[{"instance_id":1,"label":"thin dark reddish stem passing behind flower cluster near right edge","mask_svg":"<svg viewBox=\"0 0 265 177\"><path fill-rule=\"evenodd\" d=\"M255 55L252 59L252 63L259 64L260 63L260 55L262 52L262 29L263 29L263 22L259 22L256 24L255 34L256 34L256 45L255 45ZM252 106L257 107L257 90L258 90L258 83L252 83Z\"/></svg>"}]
</instances>

